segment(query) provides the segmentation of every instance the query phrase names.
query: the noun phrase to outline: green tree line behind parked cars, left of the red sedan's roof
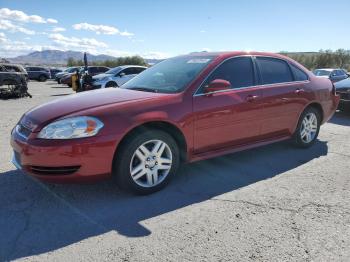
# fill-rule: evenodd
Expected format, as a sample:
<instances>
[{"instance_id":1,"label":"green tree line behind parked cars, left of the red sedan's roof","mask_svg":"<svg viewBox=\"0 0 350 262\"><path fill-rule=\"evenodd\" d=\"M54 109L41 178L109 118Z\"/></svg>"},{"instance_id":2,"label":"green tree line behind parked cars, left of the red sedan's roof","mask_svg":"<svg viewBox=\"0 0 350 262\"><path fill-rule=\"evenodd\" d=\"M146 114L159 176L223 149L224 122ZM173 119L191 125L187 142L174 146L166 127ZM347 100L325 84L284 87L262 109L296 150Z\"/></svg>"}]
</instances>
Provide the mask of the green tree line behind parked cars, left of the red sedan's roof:
<instances>
[{"instance_id":1,"label":"green tree line behind parked cars, left of the red sedan's roof","mask_svg":"<svg viewBox=\"0 0 350 262\"><path fill-rule=\"evenodd\" d=\"M146 61L141 56L126 56L126 57L119 57L116 59L111 60L104 60L104 61L88 61L89 65L93 66L107 66L107 67L117 67L121 65L140 65L140 66L147 66ZM70 57L67 60L67 66L83 66L84 61L83 59L75 60L74 58Z\"/></svg>"}]
</instances>

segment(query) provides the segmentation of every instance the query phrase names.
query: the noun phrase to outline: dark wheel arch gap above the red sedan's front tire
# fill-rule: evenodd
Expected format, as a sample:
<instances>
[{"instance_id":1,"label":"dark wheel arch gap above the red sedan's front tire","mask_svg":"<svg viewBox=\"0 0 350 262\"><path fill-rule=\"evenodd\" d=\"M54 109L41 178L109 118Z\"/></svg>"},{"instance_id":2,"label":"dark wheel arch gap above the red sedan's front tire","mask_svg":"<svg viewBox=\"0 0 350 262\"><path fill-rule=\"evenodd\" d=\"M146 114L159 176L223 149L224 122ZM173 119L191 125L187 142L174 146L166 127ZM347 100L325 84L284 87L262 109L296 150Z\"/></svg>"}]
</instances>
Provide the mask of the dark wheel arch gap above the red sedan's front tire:
<instances>
[{"instance_id":1,"label":"dark wheel arch gap above the red sedan's front tire","mask_svg":"<svg viewBox=\"0 0 350 262\"><path fill-rule=\"evenodd\" d=\"M131 128L118 143L114 153L114 159L118 157L121 149L128 143L132 136L148 130L162 130L171 135L179 146L181 161L187 161L187 141L184 134L176 125L164 120L148 121Z\"/></svg>"}]
</instances>

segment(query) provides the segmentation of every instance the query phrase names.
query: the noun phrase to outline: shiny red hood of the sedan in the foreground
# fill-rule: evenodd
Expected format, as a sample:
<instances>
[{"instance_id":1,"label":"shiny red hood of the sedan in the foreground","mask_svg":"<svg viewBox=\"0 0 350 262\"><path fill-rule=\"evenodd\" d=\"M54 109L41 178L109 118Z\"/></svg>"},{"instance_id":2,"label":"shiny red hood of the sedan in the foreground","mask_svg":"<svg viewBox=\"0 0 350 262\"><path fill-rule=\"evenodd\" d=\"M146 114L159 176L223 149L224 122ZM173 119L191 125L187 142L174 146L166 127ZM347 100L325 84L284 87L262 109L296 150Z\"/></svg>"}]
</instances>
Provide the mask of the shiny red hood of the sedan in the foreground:
<instances>
[{"instance_id":1,"label":"shiny red hood of the sedan in the foreground","mask_svg":"<svg viewBox=\"0 0 350 262\"><path fill-rule=\"evenodd\" d=\"M147 100L162 96L151 92L133 91L121 88L108 88L69 95L43 105L37 106L23 116L21 123L29 127L33 132L66 115L77 113L91 108L97 108L109 104L122 104L135 100Z\"/></svg>"}]
</instances>

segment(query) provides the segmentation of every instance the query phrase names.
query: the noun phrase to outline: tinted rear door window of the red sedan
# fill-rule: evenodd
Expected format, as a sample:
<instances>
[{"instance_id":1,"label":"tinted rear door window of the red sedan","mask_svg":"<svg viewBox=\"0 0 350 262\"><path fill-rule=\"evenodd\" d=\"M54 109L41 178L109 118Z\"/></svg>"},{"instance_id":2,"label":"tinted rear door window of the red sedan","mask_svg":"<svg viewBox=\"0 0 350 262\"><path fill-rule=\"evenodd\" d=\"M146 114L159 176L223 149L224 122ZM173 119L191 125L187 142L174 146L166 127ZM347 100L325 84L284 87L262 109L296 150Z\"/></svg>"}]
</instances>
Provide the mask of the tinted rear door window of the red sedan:
<instances>
[{"instance_id":1,"label":"tinted rear door window of the red sedan","mask_svg":"<svg viewBox=\"0 0 350 262\"><path fill-rule=\"evenodd\" d=\"M264 85L293 81L287 62L270 57L256 58Z\"/></svg>"}]
</instances>

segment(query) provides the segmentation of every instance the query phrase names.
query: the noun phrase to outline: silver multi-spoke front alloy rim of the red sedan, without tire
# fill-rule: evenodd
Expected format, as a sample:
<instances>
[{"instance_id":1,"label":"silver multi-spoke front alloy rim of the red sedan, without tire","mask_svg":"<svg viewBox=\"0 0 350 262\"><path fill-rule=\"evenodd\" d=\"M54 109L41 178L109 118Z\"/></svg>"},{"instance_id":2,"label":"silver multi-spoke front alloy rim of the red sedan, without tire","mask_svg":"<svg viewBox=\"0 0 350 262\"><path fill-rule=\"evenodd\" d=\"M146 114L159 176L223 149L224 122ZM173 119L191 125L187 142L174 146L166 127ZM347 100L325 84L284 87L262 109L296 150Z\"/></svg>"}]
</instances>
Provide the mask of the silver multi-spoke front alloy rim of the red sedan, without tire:
<instances>
[{"instance_id":1,"label":"silver multi-spoke front alloy rim of the red sedan, without tire","mask_svg":"<svg viewBox=\"0 0 350 262\"><path fill-rule=\"evenodd\" d=\"M150 140L139 146L130 162L130 175L142 187L159 185L172 167L170 147L161 140Z\"/></svg>"}]
</instances>

